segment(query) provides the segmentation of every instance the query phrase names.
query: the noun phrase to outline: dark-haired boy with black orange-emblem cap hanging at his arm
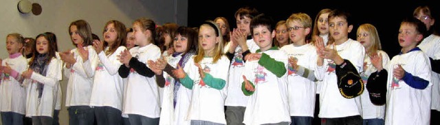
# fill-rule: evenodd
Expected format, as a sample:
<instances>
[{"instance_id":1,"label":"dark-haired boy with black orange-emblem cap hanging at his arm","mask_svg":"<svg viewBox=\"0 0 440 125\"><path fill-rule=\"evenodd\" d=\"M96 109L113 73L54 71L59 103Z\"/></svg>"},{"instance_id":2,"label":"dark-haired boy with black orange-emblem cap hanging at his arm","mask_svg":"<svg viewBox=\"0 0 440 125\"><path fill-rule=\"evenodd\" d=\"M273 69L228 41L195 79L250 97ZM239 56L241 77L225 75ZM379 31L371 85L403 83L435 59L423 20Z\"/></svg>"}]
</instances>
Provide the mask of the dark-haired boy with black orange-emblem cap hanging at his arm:
<instances>
[{"instance_id":1,"label":"dark-haired boy with black orange-emblem cap hanging at his arm","mask_svg":"<svg viewBox=\"0 0 440 125\"><path fill-rule=\"evenodd\" d=\"M315 73L318 80L323 80L319 113L322 124L362 124L359 96L351 95L351 98L347 98L346 93L340 92L340 79L336 75L336 69L358 75L364 64L364 46L348 36L353 29L350 19L348 12L331 11L329 31L334 43L327 44L325 48L322 41L315 41L319 55ZM358 80L353 79L356 85L360 85ZM363 85L356 89L362 90Z\"/></svg>"}]
</instances>

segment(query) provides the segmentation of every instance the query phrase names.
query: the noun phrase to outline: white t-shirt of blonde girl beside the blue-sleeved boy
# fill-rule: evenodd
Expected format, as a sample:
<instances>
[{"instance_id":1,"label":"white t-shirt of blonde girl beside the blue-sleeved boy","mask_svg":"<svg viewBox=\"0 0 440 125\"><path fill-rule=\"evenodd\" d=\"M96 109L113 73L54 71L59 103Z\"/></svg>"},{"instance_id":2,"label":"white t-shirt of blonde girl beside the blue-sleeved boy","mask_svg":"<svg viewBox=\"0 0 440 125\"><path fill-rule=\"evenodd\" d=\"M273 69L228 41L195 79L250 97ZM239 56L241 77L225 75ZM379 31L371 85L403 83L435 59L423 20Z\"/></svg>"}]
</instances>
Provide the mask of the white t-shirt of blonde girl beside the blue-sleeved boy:
<instances>
[{"instance_id":1,"label":"white t-shirt of blonde girl beside the blue-sleeved boy","mask_svg":"<svg viewBox=\"0 0 440 125\"><path fill-rule=\"evenodd\" d=\"M390 57L384 51L377 51L377 55L382 54L382 67L385 69L388 66L388 62L390 61ZM377 69L371 64L371 58L368 55L365 55L364 62L366 62L366 69L364 72L360 73L360 77L364 81L364 92L360 95L361 104L362 104L362 118L363 119L373 119L379 118L384 119L385 117L385 105L377 106L373 105L370 100L369 91L366 89L367 81L371 75L371 73L376 72ZM388 72L390 73L390 72Z\"/></svg>"}]
</instances>

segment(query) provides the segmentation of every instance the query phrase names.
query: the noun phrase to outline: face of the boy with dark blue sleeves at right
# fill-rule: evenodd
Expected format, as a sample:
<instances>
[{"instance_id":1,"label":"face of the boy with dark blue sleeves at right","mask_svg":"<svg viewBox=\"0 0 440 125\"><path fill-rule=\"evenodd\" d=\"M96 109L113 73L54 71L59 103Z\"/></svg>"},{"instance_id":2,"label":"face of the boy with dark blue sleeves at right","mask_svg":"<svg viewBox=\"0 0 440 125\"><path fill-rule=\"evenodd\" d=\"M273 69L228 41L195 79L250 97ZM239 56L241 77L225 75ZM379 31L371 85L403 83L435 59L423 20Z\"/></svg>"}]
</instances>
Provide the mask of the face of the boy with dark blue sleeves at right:
<instances>
[{"instance_id":1,"label":"face of the boy with dark blue sleeves at right","mask_svg":"<svg viewBox=\"0 0 440 125\"><path fill-rule=\"evenodd\" d=\"M415 48L417 42L422 38L422 35L417 33L414 25L408 25L407 23L401 24L399 28L399 45L402 48ZM406 49L406 51L409 51Z\"/></svg>"}]
</instances>

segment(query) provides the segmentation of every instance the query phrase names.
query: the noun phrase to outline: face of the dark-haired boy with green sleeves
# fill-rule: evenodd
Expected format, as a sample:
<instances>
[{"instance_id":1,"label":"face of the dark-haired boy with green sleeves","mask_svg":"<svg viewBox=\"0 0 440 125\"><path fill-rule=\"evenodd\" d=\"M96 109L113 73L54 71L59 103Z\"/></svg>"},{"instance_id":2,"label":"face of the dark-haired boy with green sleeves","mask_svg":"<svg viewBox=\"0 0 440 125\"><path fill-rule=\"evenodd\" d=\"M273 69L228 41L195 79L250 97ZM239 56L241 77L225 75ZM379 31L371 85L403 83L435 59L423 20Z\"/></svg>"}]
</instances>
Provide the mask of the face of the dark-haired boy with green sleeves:
<instances>
[{"instance_id":1,"label":"face of the dark-haired boy with green sleeves","mask_svg":"<svg viewBox=\"0 0 440 125\"><path fill-rule=\"evenodd\" d=\"M259 25L256 28L252 29L254 34L252 34L252 38L254 38L254 42L258 45L261 51L267 51L272 47L272 40L275 37L275 31L270 31L266 26Z\"/></svg>"}]
</instances>

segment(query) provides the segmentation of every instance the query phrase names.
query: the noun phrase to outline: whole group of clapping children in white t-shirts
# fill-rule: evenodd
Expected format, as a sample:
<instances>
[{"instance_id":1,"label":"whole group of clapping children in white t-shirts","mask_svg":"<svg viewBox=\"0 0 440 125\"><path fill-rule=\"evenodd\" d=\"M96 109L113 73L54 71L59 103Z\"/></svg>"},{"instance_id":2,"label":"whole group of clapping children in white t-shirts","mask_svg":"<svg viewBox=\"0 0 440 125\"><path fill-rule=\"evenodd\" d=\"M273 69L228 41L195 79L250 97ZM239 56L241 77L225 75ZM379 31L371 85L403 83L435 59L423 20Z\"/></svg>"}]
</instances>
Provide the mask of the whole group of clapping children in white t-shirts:
<instances>
[{"instance_id":1,"label":"whole group of clapping children in white t-shirts","mask_svg":"<svg viewBox=\"0 0 440 125\"><path fill-rule=\"evenodd\" d=\"M0 59L2 122L56 121L64 74L69 124L287 125L318 117L320 124L430 124L440 109L430 62L439 59L440 37L426 36L433 24L426 10L401 22L401 53L392 59L373 25L360 25L353 40L350 14L330 9L313 25L301 12L275 25L240 8L232 30L223 17L197 28L109 20L102 41L76 20L68 27L76 48L59 53L54 33L36 36L32 52L11 33L9 57ZM383 87L365 89L373 85Z\"/></svg>"}]
</instances>

